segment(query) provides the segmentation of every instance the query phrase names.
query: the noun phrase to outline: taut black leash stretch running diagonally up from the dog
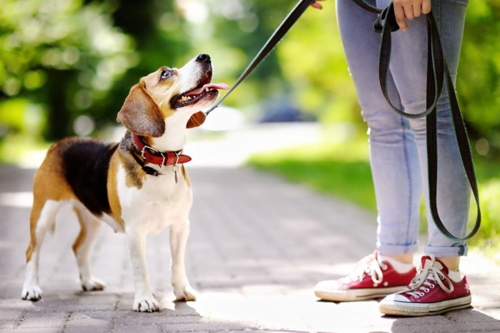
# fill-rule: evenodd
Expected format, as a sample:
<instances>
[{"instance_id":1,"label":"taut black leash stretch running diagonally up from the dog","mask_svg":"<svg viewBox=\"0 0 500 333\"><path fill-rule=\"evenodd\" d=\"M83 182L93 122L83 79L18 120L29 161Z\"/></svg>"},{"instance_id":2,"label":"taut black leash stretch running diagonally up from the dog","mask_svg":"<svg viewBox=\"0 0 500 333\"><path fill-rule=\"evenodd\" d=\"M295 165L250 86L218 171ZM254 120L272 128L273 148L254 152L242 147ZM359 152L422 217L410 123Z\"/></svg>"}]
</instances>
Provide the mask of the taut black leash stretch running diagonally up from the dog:
<instances>
[{"instance_id":1,"label":"taut black leash stretch running diagonally up from the dog","mask_svg":"<svg viewBox=\"0 0 500 333\"><path fill-rule=\"evenodd\" d=\"M214 106L212 106L208 111L205 112L206 116L208 116L211 111L214 111L214 109L217 108L222 103L222 101L224 101L224 99L226 99L231 91L234 91L234 89L239 86L239 83L243 82L246 76L249 76L249 74L254 71L257 66L259 66L259 63L261 63L261 61L263 61L264 58L266 58L266 56L271 51L273 51L274 47L279 43L279 41L281 41L283 36L285 36L285 34L289 31L291 26L295 24L299 17L304 14L304 11L306 11L307 7L309 7L313 2L314 0L299 0L299 2L297 2L294 9L292 9L285 17L285 19L281 21L281 24L279 24L278 28L276 28L271 37L269 37L264 46L262 46L259 53L257 53L254 60L252 60L249 66L246 67L245 71L241 74L241 76L239 76L238 80L236 80L229 91L221 99L219 99L219 101L217 101Z\"/></svg>"}]
</instances>

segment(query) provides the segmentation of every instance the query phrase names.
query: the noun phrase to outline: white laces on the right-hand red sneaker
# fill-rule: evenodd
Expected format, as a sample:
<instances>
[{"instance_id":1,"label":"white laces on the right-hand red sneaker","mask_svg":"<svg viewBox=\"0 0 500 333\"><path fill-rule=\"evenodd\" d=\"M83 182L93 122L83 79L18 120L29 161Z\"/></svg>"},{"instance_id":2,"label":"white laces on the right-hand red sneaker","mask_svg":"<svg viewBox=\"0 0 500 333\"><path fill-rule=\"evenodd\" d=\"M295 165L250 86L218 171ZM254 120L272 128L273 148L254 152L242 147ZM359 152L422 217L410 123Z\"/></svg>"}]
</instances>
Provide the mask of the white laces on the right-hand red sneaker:
<instances>
[{"instance_id":1,"label":"white laces on the right-hand red sneaker","mask_svg":"<svg viewBox=\"0 0 500 333\"><path fill-rule=\"evenodd\" d=\"M423 297L426 292L430 291L429 288L433 289L436 284L444 292L451 293L454 291L453 283L438 267L434 267L434 257L431 257L431 260L426 262L425 267L421 267L419 274L411 280L408 286L409 289L399 292L399 294L409 294L415 298Z\"/></svg>"}]
</instances>

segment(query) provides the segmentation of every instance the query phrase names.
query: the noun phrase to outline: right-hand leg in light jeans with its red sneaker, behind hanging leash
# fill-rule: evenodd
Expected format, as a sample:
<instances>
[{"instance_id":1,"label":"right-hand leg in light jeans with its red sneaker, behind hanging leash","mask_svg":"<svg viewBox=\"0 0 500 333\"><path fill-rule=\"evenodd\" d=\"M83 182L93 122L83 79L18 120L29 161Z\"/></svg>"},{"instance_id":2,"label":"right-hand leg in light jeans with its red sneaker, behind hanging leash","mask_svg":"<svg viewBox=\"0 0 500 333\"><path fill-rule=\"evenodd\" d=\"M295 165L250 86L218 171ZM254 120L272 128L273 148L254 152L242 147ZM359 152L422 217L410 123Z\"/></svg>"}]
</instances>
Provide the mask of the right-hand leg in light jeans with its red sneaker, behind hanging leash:
<instances>
[{"instance_id":1,"label":"right-hand leg in light jeans with its red sneaker, behind hanging leash","mask_svg":"<svg viewBox=\"0 0 500 333\"><path fill-rule=\"evenodd\" d=\"M389 0L380 0L388 4ZM436 0L432 3L439 21L444 56L452 76L456 77L461 37L466 12L465 0ZM419 61L421 59L421 61ZM393 34L391 73L398 87L401 103L408 113L425 108L426 22L421 17L409 22L406 32ZM466 232L470 190L461 165L458 145L450 116L449 96L443 93L438 112L438 196L437 205L446 228L457 236ZM411 121L419 150L424 194L428 202L426 128L424 119ZM429 205L427 211L429 212ZM423 316L470 307L471 294L466 277L458 272L459 256L466 255L466 242L448 240L437 230L431 215L426 256L421 259L419 275L409 289L385 297L380 303L384 314Z\"/></svg>"}]
</instances>

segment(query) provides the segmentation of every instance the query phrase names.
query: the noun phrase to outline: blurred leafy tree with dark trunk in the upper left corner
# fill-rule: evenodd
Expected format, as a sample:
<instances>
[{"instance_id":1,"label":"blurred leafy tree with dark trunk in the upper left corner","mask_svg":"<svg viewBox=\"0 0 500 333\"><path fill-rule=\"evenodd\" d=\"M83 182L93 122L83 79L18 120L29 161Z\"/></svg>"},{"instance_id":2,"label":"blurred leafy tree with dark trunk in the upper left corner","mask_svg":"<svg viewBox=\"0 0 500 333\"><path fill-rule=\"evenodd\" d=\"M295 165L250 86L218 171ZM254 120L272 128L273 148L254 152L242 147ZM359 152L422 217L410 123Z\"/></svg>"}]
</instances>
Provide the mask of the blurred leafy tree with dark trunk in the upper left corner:
<instances>
[{"instance_id":1,"label":"blurred leafy tree with dark trunk in the upper left corner","mask_svg":"<svg viewBox=\"0 0 500 333\"><path fill-rule=\"evenodd\" d=\"M46 105L48 139L71 133L76 115L106 96L136 62L134 41L113 26L110 3L81 5L2 1L0 101L21 96Z\"/></svg>"}]
</instances>

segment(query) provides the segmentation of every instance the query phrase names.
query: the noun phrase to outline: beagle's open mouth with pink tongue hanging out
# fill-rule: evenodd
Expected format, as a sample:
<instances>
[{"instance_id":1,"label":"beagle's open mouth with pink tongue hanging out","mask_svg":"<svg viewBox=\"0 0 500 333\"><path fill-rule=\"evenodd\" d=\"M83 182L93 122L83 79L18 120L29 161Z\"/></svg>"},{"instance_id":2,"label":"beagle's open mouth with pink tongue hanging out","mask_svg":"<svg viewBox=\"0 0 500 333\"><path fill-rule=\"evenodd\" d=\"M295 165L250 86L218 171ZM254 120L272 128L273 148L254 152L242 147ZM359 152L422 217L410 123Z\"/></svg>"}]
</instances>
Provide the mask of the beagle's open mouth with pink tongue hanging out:
<instances>
[{"instance_id":1,"label":"beagle's open mouth with pink tongue hanging out","mask_svg":"<svg viewBox=\"0 0 500 333\"><path fill-rule=\"evenodd\" d=\"M189 106L191 104L197 103L201 100L209 100L216 98L219 90L229 89L226 83L211 83L211 73L208 72L201 79L198 86L190 91L181 93L174 96L171 99L171 105L173 108L184 108L184 106Z\"/></svg>"}]
</instances>

